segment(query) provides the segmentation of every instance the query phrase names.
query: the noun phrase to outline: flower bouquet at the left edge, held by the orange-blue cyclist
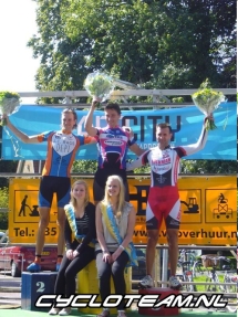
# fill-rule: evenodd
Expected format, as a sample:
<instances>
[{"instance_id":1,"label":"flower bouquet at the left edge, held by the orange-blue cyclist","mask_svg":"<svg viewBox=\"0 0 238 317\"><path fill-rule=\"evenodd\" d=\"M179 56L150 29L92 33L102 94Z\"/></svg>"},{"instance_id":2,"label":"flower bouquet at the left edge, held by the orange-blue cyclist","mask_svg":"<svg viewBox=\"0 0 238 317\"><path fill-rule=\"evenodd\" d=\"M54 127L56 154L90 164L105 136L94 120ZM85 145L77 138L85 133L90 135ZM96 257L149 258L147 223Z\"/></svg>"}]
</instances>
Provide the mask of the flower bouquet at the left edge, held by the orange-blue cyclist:
<instances>
[{"instance_id":1,"label":"flower bouquet at the left edge, held by the orange-blue cyclist","mask_svg":"<svg viewBox=\"0 0 238 317\"><path fill-rule=\"evenodd\" d=\"M11 92L0 92L0 115L10 115L17 110L20 104L20 95ZM1 120L2 126L7 124L6 119Z\"/></svg>"}]
</instances>

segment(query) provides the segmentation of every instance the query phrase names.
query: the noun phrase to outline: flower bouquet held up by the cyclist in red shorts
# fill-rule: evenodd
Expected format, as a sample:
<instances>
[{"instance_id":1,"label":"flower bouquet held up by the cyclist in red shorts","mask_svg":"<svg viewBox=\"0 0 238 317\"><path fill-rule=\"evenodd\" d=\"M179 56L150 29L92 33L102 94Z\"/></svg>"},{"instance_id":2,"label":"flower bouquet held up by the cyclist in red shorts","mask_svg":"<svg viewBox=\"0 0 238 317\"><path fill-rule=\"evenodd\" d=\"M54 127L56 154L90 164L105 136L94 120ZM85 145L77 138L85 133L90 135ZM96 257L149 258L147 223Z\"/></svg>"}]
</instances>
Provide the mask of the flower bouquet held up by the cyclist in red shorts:
<instances>
[{"instance_id":1,"label":"flower bouquet held up by the cyclist in red shorts","mask_svg":"<svg viewBox=\"0 0 238 317\"><path fill-rule=\"evenodd\" d=\"M201 83L198 92L192 95L192 98L195 105L204 113L205 115L213 114L216 110L221 102L225 101L225 96L221 92L216 92L210 87L210 83L206 80ZM216 129L214 120L207 119L205 123L206 130Z\"/></svg>"}]
</instances>

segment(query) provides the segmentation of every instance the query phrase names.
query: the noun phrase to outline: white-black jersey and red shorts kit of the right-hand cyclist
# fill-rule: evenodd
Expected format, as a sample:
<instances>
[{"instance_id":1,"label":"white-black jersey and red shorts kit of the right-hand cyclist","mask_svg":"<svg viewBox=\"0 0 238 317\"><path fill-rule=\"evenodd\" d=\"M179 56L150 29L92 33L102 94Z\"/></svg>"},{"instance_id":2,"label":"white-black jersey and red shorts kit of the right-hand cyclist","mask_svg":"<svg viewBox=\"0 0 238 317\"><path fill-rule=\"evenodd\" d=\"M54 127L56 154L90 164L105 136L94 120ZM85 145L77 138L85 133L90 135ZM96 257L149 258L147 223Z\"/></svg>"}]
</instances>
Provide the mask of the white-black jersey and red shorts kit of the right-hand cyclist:
<instances>
[{"instance_id":1,"label":"white-black jersey and red shorts kit of the right-hand cyclist","mask_svg":"<svg viewBox=\"0 0 238 317\"><path fill-rule=\"evenodd\" d=\"M193 155L205 147L207 131L203 127L198 141L194 145L152 148L137 160L126 165L126 170L148 163L151 166L151 188L146 205L147 230L158 229L163 218L167 229L179 229L180 200L177 188L178 166L182 157Z\"/></svg>"}]
</instances>

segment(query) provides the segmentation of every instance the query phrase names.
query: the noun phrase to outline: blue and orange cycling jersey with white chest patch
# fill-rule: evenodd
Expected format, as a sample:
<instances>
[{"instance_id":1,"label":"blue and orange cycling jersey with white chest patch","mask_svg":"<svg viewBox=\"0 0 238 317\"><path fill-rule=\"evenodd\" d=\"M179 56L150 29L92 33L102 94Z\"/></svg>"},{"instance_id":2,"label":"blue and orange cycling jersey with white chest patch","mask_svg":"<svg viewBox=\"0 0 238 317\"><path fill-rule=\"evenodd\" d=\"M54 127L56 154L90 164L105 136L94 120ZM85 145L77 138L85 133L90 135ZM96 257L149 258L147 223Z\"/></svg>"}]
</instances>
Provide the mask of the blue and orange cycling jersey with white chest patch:
<instances>
[{"instance_id":1,"label":"blue and orange cycling jersey with white chest patch","mask_svg":"<svg viewBox=\"0 0 238 317\"><path fill-rule=\"evenodd\" d=\"M48 131L38 136L39 142L48 141L48 156L43 176L70 177L71 167L80 146L94 138L82 135Z\"/></svg>"}]
</instances>

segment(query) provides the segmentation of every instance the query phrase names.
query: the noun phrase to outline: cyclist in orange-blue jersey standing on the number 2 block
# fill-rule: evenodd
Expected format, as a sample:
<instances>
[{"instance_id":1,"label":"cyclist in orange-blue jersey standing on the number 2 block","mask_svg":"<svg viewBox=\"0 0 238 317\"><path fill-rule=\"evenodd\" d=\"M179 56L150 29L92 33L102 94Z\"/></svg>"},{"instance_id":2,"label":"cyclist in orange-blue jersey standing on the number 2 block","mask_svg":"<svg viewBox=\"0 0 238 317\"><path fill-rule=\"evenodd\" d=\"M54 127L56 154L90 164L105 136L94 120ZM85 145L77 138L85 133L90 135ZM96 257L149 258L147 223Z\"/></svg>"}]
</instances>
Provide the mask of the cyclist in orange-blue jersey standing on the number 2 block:
<instances>
[{"instance_id":1,"label":"cyclist in orange-blue jersey standing on the number 2 block","mask_svg":"<svg viewBox=\"0 0 238 317\"><path fill-rule=\"evenodd\" d=\"M3 115L3 117L7 118L8 128L23 142L48 142L48 154L39 189L40 221L37 233L35 258L27 270L30 272L39 272L41 270L41 254L44 246L45 229L50 221L49 214L53 194L56 193L59 234L58 261L55 268L59 271L64 253L64 205L70 201L71 167L80 146L96 142L96 140L89 136L85 137L72 134L72 130L77 126L77 116L74 109L71 108L62 112L62 130L42 133L35 136L23 134L11 124L8 116Z\"/></svg>"}]
</instances>

